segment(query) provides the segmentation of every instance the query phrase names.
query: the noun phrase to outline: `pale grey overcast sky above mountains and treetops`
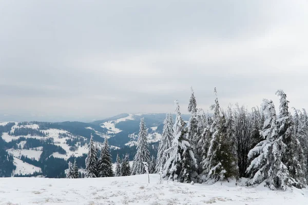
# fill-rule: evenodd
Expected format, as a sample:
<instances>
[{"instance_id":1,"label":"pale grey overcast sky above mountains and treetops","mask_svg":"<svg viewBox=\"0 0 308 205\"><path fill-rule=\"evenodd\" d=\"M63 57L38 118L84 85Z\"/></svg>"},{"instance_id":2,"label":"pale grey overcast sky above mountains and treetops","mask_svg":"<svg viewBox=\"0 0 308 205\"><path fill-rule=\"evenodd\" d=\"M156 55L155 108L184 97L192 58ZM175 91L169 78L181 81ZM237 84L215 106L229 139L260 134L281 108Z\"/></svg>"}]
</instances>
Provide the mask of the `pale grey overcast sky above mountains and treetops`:
<instances>
[{"instance_id":1,"label":"pale grey overcast sky above mountains and treetops","mask_svg":"<svg viewBox=\"0 0 308 205\"><path fill-rule=\"evenodd\" d=\"M308 108L308 1L0 0L0 120Z\"/></svg>"}]
</instances>

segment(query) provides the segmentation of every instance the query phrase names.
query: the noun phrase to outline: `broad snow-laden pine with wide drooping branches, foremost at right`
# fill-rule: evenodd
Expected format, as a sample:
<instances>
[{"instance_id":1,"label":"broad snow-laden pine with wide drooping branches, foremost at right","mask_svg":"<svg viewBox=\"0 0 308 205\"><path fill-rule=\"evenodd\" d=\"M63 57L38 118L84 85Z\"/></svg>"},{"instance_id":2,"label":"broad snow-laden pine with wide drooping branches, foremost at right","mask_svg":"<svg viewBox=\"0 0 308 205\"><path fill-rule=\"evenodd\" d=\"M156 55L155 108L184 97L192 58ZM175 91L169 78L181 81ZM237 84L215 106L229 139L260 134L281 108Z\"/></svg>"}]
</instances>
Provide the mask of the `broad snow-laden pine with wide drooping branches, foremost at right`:
<instances>
[{"instance_id":1,"label":"broad snow-laden pine with wide drooping branches, foremost at right","mask_svg":"<svg viewBox=\"0 0 308 205\"><path fill-rule=\"evenodd\" d=\"M286 146L282 137L278 137L277 116L272 100L263 100L262 112L265 120L260 135L264 140L249 151L248 158L253 160L246 172L251 174L253 184L265 180L270 189L285 190L291 186L287 167L282 163Z\"/></svg>"}]
</instances>

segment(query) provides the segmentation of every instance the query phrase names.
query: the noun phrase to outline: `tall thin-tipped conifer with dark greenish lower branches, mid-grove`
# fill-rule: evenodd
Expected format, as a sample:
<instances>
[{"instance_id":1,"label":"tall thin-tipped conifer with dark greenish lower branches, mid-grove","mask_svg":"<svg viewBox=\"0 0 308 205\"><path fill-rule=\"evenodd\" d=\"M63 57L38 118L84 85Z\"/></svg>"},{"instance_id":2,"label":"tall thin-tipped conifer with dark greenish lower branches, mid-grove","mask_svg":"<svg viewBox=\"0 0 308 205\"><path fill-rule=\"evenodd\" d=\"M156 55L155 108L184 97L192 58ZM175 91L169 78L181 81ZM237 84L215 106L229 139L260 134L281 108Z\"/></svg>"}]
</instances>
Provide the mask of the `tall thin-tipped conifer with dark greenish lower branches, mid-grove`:
<instances>
[{"instance_id":1,"label":"tall thin-tipped conifer with dark greenish lower branches, mid-grove","mask_svg":"<svg viewBox=\"0 0 308 205\"><path fill-rule=\"evenodd\" d=\"M229 141L225 115L220 113L216 88L214 93L216 99L215 104L211 106L211 109L214 110L213 124L210 128L211 140L207 156L202 162L206 174L202 177L202 181L208 179L225 180L237 175L233 145Z\"/></svg>"}]
</instances>

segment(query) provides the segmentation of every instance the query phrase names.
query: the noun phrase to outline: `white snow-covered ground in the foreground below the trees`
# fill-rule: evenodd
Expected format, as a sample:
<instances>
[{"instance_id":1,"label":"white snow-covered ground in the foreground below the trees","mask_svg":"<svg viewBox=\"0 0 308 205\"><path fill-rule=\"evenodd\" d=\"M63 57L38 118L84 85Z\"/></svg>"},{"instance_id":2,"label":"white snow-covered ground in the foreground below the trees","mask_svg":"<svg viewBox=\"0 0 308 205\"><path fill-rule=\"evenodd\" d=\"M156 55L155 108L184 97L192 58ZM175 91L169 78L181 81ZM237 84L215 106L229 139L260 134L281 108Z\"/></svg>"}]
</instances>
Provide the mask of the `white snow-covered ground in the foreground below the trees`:
<instances>
[{"instance_id":1,"label":"white snow-covered ground in the foreground below the trees","mask_svg":"<svg viewBox=\"0 0 308 205\"><path fill-rule=\"evenodd\" d=\"M270 191L234 182L190 185L159 175L92 179L0 178L0 204L307 204L308 190Z\"/></svg>"}]
</instances>

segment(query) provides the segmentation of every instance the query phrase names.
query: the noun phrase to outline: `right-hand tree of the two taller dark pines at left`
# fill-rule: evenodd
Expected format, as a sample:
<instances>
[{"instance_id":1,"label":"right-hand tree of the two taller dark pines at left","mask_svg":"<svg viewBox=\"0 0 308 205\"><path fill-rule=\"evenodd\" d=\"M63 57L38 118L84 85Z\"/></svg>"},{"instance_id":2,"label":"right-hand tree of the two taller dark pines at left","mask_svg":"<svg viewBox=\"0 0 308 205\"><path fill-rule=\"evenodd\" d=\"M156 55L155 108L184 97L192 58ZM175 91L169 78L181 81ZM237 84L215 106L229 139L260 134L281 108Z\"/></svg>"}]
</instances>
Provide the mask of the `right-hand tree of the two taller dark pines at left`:
<instances>
[{"instance_id":1,"label":"right-hand tree of the two taller dark pines at left","mask_svg":"<svg viewBox=\"0 0 308 205\"><path fill-rule=\"evenodd\" d=\"M105 137L104 145L101 150L101 156L98 160L98 177L112 177L112 163L111 155L109 153L110 147L108 145L108 140Z\"/></svg>"}]
</instances>

